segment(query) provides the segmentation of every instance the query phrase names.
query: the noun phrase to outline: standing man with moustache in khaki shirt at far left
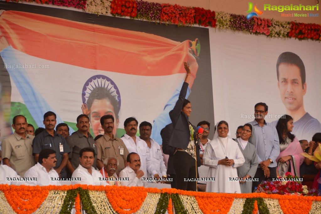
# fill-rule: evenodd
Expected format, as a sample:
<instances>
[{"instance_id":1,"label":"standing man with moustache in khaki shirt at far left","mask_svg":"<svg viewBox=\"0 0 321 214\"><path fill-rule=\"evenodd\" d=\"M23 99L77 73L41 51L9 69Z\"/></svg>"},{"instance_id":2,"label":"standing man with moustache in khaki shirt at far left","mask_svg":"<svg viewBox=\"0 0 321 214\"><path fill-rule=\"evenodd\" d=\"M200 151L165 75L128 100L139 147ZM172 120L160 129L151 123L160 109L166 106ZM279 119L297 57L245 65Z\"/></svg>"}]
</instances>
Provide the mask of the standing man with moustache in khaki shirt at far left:
<instances>
[{"instance_id":1,"label":"standing man with moustache in khaki shirt at far left","mask_svg":"<svg viewBox=\"0 0 321 214\"><path fill-rule=\"evenodd\" d=\"M22 115L13 117L13 135L2 141L3 164L14 169L20 177L35 165L32 156L32 140L34 136L26 134L27 119Z\"/></svg>"}]
</instances>

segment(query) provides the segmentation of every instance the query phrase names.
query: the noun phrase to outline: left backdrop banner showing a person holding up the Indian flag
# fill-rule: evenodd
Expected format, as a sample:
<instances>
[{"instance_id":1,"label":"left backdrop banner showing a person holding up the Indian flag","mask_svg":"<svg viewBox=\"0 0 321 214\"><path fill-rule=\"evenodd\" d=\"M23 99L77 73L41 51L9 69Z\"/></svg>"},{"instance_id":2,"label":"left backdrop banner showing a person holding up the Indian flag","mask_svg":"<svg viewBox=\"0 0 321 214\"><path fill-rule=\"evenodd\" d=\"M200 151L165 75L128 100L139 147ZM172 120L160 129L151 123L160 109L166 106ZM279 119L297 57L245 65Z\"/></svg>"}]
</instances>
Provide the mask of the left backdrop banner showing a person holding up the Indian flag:
<instances>
[{"instance_id":1,"label":"left backdrop banner showing a person holding up the Indian flag","mask_svg":"<svg viewBox=\"0 0 321 214\"><path fill-rule=\"evenodd\" d=\"M76 130L87 104L94 136L103 134L105 114L116 118L118 137L124 120L134 116L153 124L152 137L161 144L160 130L170 123L185 78L184 61L192 70L190 120L214 122L207 28L16 3L1 2L0 9L2 139L18 114L38 128L43 114L54 111L57 124Z\"/></svg>"}]
</instances>

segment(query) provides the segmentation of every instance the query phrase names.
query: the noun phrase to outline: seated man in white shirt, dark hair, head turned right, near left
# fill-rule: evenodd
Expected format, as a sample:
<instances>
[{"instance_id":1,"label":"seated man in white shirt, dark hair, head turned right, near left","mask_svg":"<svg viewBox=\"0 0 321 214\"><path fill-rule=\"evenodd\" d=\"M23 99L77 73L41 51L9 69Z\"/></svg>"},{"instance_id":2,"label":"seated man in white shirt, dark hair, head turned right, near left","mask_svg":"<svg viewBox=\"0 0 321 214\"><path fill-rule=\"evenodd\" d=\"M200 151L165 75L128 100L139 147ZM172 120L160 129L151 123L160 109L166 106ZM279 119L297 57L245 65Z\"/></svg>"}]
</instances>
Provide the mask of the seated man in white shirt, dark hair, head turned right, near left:
<instances>
[{"instance_id":1,"label":"seated man in white shirt, dark hair, head turned right, near left","mask_svg":"<svg viewBox=\"0 0 321 214\"><path fill-rule=\"evenodd\" d=\"M27 184L31 186L47 186L57 185L59 183L59 175L54 169L56 166L56 151L52 149L43 149L39 152L39 158L36 165L28 169L24 174Z\"/></svg>"}]
</instances>

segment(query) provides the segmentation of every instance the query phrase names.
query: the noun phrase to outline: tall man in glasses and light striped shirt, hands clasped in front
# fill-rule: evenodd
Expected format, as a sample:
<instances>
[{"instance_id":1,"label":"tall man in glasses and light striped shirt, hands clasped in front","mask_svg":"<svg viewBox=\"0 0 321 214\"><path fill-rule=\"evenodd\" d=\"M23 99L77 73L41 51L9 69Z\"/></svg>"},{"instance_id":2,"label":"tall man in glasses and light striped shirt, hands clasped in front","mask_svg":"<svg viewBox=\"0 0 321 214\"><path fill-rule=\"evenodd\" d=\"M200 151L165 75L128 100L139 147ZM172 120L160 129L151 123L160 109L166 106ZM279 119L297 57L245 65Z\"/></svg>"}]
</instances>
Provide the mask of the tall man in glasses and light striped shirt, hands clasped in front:
<instances>
[{"instance_id":1,"label":"tall man in glasses and light striped shirt, hands clasped in front","mask_svg":"<svg viewBox=\"0 0 321 214\"><path fill-rule=\"evenodd\" d=\"M252 192L263 180L272 180L272 178L277 177L275 159L280 154L280 143L275 126L265 122L267 110L268 106L265 103L256 103L254 107L255 119L249 123L253 127L249 142L255 143L259 162L254 176L259 178L259 181L253 181Z\"/></svg>"}]
</instances>

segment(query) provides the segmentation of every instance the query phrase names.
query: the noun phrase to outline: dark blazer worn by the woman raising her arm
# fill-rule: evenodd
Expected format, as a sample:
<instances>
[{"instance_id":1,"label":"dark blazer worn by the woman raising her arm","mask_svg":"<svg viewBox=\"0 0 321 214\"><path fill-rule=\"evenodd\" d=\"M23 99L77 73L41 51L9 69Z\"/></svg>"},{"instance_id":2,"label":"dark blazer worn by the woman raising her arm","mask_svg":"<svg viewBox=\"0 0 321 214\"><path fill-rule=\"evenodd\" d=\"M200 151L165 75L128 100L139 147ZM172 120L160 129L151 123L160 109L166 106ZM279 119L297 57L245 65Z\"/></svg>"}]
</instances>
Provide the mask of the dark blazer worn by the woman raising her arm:
<instances>
[{"instance_id":1,"label":"dark blazer worn by the woman raising her arm","mask_svg":"<svg viewBox=\"0 0 321 214\"><path fill-rule=\"evenodd\" d=\"M182 89L179 93L178 101L176 102L174 109L169 112L169 117L173 124L173 132L169 138L168 144L175 148L185 149L189 143L189 122L187 115L182 111L183 103L187 94L188 83L184 82ZM193 125L192 125L193 126ZM196 143L196 127L193 126L194 139ZM196 160L197 166L201 166L201 159L199 156L199 146L196 146Z\"/></svg>"}]
</instances>

